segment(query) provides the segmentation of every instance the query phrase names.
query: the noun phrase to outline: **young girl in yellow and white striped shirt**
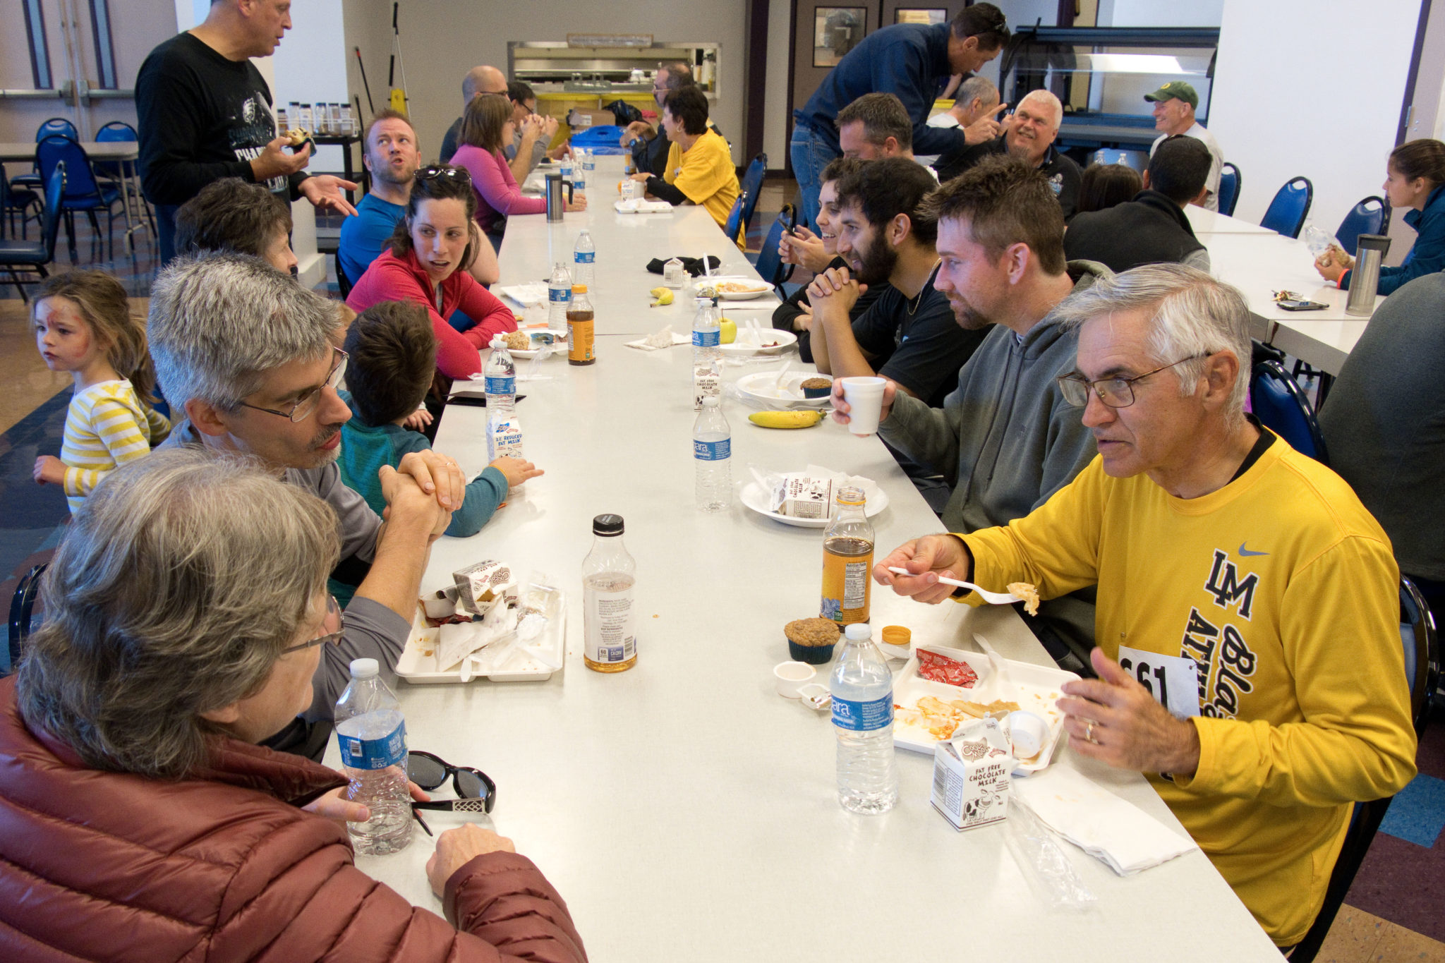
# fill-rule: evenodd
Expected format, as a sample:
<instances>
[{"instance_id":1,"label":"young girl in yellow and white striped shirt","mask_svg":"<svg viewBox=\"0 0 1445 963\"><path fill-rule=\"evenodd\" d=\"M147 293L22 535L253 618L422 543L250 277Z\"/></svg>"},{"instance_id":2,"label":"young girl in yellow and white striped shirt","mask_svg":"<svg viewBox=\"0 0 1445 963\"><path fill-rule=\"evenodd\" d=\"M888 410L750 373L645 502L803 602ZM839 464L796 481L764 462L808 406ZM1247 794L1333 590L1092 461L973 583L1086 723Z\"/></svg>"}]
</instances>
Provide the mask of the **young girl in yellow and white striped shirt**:
<instances>
[{"instance_id":1,"label":"young girl in yellow and white striped shirt","mask_svg":"<svg viewBox=\"0 0 1445 963\"><path fill-rule=\"evenodd\" d=\"M35 341L51 371L69 371L75 397L61 456L35 459L35 481L64 485L71 511L121 462L150 453L171 422L150 406L156 384L146 325L104 271L51 277L35 300Z\"/></svg>"}]
</instances>

